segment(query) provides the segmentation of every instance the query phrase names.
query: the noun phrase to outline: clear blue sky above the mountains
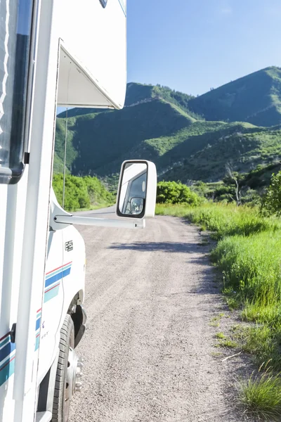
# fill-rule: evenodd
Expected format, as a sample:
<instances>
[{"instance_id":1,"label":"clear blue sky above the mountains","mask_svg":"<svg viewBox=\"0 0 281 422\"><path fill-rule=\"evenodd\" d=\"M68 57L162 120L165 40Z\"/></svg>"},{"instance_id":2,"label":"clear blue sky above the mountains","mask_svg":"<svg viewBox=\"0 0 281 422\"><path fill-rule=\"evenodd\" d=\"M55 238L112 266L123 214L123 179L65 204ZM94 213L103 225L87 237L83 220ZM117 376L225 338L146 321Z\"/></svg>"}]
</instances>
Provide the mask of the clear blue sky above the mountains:
<instances>
[{"instance_id":1,"label":"clear blue sky above the mountains","mask_svg":"<svg viewBox=\"0 0 281 422\"><path fill-rule=\"evenodd\" d=\"M203 94L281 66L280 0L127 0L128 82Z\"/></svg>"}]
</instances>

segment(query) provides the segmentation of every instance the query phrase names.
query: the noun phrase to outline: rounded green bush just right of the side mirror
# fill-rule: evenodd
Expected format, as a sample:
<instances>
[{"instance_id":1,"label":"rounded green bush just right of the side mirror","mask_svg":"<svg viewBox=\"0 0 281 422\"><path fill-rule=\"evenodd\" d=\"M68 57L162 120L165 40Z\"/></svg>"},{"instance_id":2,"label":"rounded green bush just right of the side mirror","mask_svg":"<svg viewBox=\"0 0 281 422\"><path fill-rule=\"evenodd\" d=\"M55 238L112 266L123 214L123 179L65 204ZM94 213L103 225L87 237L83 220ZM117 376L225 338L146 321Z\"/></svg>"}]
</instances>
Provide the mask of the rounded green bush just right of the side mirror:
<instances>
[{"instance_id":1,"label":"rounded green bush just right of the side mirror","mask_svg":"<svg viewBox=\"0 0 281 422\"><path fill-rule=\"evenodd\" d=\"M202 198L192 192L188 186L176 181L160 181L157 184L157 198L159 204L188 204L200 205Z\"/></svg>"}]
</instances>

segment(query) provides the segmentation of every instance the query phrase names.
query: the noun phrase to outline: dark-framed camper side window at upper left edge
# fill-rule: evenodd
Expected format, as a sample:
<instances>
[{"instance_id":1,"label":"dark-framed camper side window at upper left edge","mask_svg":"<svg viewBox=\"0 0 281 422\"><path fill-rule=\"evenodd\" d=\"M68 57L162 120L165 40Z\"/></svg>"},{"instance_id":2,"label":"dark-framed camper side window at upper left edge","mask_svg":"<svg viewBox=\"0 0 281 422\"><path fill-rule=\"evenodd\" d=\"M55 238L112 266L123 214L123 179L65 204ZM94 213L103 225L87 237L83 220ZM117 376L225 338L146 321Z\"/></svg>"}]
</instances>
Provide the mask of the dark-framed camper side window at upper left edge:
<instances>
[{"instance_id":1,"label":"dark-framed camper side window at upper left edge","mask_svg":"<svg viewBox=\"0 0 281 422\"><path fill-rule=\"evenodd\" d=\"M4 1L0 9L0 183L23 172L32 0Z\"/></svg>"}]
</instances>

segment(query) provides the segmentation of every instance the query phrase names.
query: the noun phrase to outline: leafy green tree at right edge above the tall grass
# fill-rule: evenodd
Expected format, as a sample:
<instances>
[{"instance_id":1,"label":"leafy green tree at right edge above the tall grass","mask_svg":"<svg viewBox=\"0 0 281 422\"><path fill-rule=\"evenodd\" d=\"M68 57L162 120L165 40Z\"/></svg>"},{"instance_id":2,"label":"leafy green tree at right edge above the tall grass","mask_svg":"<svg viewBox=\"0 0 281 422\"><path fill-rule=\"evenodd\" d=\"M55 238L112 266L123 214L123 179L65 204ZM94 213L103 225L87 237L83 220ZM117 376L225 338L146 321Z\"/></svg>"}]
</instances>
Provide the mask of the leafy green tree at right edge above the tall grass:
<instances>
[{"instance_id":1,"label":"leafy green tree at right edge above the tall grass","mask_svg":"<svg viewBox=\"0 0 281 422\"><path fill-rule=\"evenodd\" d=\"M273 173L268 191L261 201L261 212L281 217L281 172Z\"/></svg>"}]
</instances>

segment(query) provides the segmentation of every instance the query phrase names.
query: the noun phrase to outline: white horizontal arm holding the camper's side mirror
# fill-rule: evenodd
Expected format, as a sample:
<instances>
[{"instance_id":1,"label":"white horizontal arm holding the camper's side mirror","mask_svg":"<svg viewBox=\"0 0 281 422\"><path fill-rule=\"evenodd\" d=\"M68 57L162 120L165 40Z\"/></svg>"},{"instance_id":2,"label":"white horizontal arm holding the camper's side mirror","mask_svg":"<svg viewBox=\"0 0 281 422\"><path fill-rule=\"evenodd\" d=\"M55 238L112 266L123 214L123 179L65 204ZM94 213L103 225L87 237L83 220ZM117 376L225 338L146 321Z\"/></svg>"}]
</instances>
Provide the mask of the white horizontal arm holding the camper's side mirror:
<instances>
[{"instance_id":1,"label":"white horizontal arm holding the camper's side mirror","mask_svg":"<svg viewBox=\"0 0 281 422\"><path fill-rule=\"evenodd\" d=\"M82 224L84 226L116 227L117 229L145 228L145 219L106 219L77 215L55 215L53 219L56 224Z\"/></svg>"}]
</instances>

